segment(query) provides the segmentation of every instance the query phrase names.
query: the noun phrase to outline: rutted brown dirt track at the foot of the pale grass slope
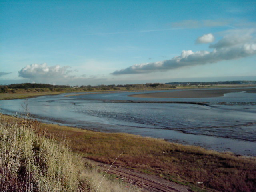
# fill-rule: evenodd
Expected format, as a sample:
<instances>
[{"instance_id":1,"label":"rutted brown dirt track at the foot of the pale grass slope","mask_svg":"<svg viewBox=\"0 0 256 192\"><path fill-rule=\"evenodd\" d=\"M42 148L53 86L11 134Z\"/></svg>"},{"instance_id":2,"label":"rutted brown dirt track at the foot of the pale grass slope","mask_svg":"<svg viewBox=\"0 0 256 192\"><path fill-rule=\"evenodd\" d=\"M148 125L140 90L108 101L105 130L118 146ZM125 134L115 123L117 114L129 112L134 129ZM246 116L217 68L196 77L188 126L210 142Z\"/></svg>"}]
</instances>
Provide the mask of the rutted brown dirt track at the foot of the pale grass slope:
<instances>
[{"instance_id":1,"label":"rutted brown dirt track at the foot of the pale grass slope","mask_svg":"<svg viewBox=\"0 0 256 192\"><path fill-rule=\"evenodd\" d=\"M88 159L86 159L88 160ZM110 165L89 160L92 164L100 167L104 172L108 170ZM142 189L143 192L189 192L188 186L180 185L160 178L134 170L122 168L113 165L108 173L120 176L125 182L132 183Z\"/></svg>"}]
</instances>

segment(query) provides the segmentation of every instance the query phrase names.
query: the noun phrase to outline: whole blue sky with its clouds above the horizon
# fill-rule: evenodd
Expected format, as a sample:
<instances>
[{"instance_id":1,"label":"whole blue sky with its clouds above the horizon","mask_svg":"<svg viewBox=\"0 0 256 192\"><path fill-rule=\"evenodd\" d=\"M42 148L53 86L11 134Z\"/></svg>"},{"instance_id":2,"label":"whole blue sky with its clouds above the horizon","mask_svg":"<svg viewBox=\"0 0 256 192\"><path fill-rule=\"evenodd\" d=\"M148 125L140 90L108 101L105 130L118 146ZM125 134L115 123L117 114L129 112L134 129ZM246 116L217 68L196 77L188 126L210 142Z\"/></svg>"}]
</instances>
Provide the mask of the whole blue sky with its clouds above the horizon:
<instances>
[{"instance_id":1,"label":"whole blue sky with its clouds above the horizon","mask_svg":"<svg viewBox=\"0 0 256 192\"><path fill-rule=\"evenodd\" d=\"M0 2L0 84L256 80L256 2Z\"/></svg>"}]
</instances>

